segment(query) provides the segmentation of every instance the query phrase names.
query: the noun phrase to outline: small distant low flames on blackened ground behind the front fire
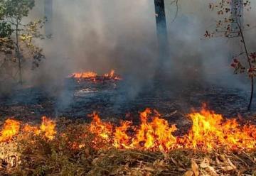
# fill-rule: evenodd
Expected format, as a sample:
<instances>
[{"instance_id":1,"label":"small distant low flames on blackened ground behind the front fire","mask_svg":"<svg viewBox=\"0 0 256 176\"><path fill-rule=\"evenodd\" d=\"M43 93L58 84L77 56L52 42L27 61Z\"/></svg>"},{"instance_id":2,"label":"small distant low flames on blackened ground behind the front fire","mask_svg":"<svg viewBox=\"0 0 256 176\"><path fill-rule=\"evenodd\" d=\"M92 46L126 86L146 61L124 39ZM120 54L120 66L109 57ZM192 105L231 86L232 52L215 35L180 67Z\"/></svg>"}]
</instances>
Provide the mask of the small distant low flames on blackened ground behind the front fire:
<instances>
[{"instance_id":1,"label":"small distant low flames on blackened ground behind the front fire","mask_svg":"<svg viewBox=\"0 0 256 176\"><path fill-rule=\"evenodd\" d=\"M81 80L87 80L90 82L100 82L104 80L121 80L121 77L115 74L114 70L111 70L110 73L105 75L97 75L95 72L75 72L68 76L68 78L77 79L78 82Z\"/></svg>"}]
</instances>

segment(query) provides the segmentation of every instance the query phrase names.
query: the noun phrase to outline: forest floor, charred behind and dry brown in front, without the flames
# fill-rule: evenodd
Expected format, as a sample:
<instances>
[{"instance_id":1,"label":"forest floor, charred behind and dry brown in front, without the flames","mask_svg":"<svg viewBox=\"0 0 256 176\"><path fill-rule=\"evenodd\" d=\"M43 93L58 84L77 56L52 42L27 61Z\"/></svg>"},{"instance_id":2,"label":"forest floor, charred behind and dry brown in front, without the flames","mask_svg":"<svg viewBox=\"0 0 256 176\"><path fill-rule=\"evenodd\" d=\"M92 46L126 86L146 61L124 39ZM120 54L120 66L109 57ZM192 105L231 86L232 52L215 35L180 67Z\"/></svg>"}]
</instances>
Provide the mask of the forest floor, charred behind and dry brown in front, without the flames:
<instances>
[{"instance_id":1,"label":"forest floor, charred behind and dry brown in front, without the flames","mask_svg":"<svg viewBox=\"0 0 256 176\"><path fill-rule=\"evenodd\" d=\"M208 108L227 118L241 118L256 123L255 108L246 111L249 92L240 89L201 84L166 86L161 82L145 85L135 95L127 85L74 84L66 89L48 92L38 87L19 89L0 98L1 123L14 117L24 123L38 124L41 116L55 119L58 131L72 131L68 138L59 135L52 141L35 136L17 136L1 143L0 175L256 175L254 150L224 149L171 150L169 153L142 150L117 150L105 144L96 150L90 137L85 146L70 150L74 135L84 131L99 112L102 119L118 123L120 119L139 123L139 111L156 109L171 124L186 133L191 122L186 114ZM255 104L252 105L255 107ZM88 132L89 133L89 132Z\"/></svg>"}]
</instances>

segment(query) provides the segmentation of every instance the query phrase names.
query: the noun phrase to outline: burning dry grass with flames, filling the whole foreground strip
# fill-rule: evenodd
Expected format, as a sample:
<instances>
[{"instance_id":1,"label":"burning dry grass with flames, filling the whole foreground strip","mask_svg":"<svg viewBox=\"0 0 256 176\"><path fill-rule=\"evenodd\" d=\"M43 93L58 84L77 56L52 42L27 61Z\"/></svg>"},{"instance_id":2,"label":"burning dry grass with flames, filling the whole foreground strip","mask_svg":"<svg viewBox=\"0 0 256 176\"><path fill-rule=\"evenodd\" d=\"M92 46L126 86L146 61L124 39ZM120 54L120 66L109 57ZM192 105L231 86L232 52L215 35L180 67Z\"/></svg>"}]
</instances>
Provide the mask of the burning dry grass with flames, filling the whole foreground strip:
<instances>
[{"instance_id":1,"label":"burning dry grass with flames, filling the whole foreground strip","mask_svg":"<svg viewBox=\"0 0 256 176\"><path fill-rule=\"evenodd\" d=\"M178 129L146 109L141 124L119 126L43 117L41 126L6 120L1 130L1 172L16 175L254 175L256 126L223 119L203 107ZM57 126L56 126L57 124ZM58 131L58 132L57 132ZM1 173L0 172L0 173Z\"/></svg>"}]
</instances>

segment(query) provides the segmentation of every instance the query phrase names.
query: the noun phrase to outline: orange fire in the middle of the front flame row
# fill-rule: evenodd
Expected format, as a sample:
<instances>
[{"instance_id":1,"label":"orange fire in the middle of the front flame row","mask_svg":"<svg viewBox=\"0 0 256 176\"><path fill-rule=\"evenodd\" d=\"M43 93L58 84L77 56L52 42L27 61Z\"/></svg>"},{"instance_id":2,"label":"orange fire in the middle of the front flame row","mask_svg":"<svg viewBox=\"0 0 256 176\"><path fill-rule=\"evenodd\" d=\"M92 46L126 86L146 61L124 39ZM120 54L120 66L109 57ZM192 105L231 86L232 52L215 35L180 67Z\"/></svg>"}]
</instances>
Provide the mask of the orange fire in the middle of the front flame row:
<instances>
[{"instance_id":1,"label":"orange fire in the middle of the front flame row","mask_svg":"<svg viewBox=\"0 0 256 176\"><path fill-rule=\"evenodd\" d=\"M138 127L132 126L130 121L122 121L121 126L114 127L110 123L102 123L95 114L90 130L97 136L112 141L115 148L170 150L176 144L176 137L172 135L177 130L176 126L170 126L168 121L160 119L157 111L146 109L140 114L140 119L141 125ZM128 135L129 129L134 131L134 136Z\"/></svg>"}]
</instances>

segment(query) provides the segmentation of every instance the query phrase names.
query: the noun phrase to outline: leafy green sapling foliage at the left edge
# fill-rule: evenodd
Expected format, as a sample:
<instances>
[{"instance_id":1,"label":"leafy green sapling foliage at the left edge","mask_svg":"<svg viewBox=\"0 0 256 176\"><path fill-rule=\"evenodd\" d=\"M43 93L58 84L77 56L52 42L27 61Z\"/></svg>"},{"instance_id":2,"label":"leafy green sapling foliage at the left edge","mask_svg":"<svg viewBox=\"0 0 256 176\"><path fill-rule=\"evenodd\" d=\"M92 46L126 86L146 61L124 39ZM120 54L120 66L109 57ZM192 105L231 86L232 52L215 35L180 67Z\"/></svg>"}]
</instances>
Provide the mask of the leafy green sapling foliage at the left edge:
<instances>
[{"instance_id":1,"label":"leafy green sapling foliage at the left edge","mask_svg":"<svg viewBox=\"0 0 256 176\"><path fill-rule=\"evenodd\" d=\"M39 67L39 63L45 58L43 49L35 45L35 40L46 38L41 34L46 18L23 23L23 17L28 16L34 6L34 0L0 0L0 59L13 62L14 67L18 64L18 79L21 84L23 67L28 65L26 61L31 60L29 63L33 70ZM10 67L10 64L8 65ZM11 77L17 79L16 74Z\"/></svg>"}]
</instances>

